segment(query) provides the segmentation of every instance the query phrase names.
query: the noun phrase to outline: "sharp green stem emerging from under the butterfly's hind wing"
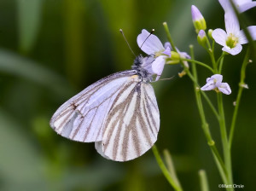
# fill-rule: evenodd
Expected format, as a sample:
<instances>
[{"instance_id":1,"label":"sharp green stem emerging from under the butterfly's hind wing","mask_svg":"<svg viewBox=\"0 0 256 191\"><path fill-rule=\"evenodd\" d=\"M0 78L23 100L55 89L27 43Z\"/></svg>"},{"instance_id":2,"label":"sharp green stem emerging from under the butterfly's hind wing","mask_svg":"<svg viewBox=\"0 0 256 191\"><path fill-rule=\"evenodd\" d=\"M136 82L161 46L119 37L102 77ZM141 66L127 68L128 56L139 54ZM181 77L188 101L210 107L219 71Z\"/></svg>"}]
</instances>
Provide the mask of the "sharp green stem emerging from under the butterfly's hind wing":
<instances>
[{"instance_id":1,"label":"sharp green stem emerging from under the butterfly's hind wing","mask_svg":"<svg viewBox=\"0 0 256 191\"><path fill-rule=\"evenodd\" d=\"M173 177L171 176L171 173L167 170L166 165L164 164L163 160L161 159L160 154L155 145L152 147L152 150L154 153L154 157L155 157L158 165L160 166L161 171L163 172L164 176L166 177L167 181L172 185L172 187L175 190L183 191L183 188L181 188L179 185L177 185L177 182L173 179Z\"/></svg>"}]
</instances>

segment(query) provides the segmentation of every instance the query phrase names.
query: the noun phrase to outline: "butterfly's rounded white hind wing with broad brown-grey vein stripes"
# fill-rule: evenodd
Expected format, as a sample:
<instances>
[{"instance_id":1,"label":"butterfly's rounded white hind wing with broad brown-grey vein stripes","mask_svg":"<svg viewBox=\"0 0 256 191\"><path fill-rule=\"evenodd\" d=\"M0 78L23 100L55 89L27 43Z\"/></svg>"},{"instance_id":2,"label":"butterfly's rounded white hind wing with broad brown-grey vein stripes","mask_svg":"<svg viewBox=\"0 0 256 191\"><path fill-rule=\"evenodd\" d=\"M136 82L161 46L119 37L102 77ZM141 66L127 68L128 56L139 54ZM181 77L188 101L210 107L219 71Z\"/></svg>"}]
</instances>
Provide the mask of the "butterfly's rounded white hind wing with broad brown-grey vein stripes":
<instances>
[{"instance_id":1,"label":"butterfly's rounded white hind wing with broad brown-grey vein stripes","mask_svg":"<svg viewBox=\"0 0 256 191\"><path fill-rule=\"evenodd\" d=\"M132 81L113 101L96 150L107 159L135 159L154 145L159 128L160 113L153 87L139 80Z\"/></svg>"}]
</instances>

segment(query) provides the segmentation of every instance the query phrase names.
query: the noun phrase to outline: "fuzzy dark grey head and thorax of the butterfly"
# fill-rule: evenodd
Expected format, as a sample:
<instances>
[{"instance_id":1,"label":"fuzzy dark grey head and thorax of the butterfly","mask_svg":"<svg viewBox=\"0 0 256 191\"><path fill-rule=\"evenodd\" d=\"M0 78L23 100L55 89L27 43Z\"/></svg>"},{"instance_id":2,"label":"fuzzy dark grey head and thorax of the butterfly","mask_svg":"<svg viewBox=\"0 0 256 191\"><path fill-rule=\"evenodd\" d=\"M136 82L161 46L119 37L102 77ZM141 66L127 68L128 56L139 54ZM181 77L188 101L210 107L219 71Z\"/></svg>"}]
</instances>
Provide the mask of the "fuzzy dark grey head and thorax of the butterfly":
<instances>
[{"instance_id":1,"label":"fuzzy dark grey head and thorax of the butterfly","mask_svg":"<svg viewBox=\"0 0 256 191\"><path fill-rule=\"evenodd\" d=\"M142 55L138 55L134 62L133 65L131 66L131 68L133 70L137 71L137 75L139 76L139 78L145 82L145 83L149 83L152 81L152 74L148 72L147 69L143 68L143 61L144 58Z\"/></svg>"}]
</instances>

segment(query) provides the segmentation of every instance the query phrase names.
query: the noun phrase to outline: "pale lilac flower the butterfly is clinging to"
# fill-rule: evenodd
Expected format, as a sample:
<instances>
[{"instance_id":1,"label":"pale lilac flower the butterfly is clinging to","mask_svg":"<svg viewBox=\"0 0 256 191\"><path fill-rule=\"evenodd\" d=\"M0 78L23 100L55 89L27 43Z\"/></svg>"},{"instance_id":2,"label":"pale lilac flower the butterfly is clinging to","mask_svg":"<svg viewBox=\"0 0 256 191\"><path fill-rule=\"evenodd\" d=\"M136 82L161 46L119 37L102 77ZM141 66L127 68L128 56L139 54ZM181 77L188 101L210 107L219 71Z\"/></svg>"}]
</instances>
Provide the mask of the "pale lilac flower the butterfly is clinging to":
<instances>
[{"instance_id":1,"label":"pale lilac flower the butterfly is clinging to","mask_svg":"<svg viewBox=\"0 0 256 191\"><path fill-rule=\"evenodd\" d=\"M156 57L152 63L152 71L157 74L155 78L157 81L164 70L166 58L171 57L170 47L166 47L165 49L160 39L154 34L150 35L145 29L137 36L137 44L143 52Z\"/></svg>"}]
</instances>

